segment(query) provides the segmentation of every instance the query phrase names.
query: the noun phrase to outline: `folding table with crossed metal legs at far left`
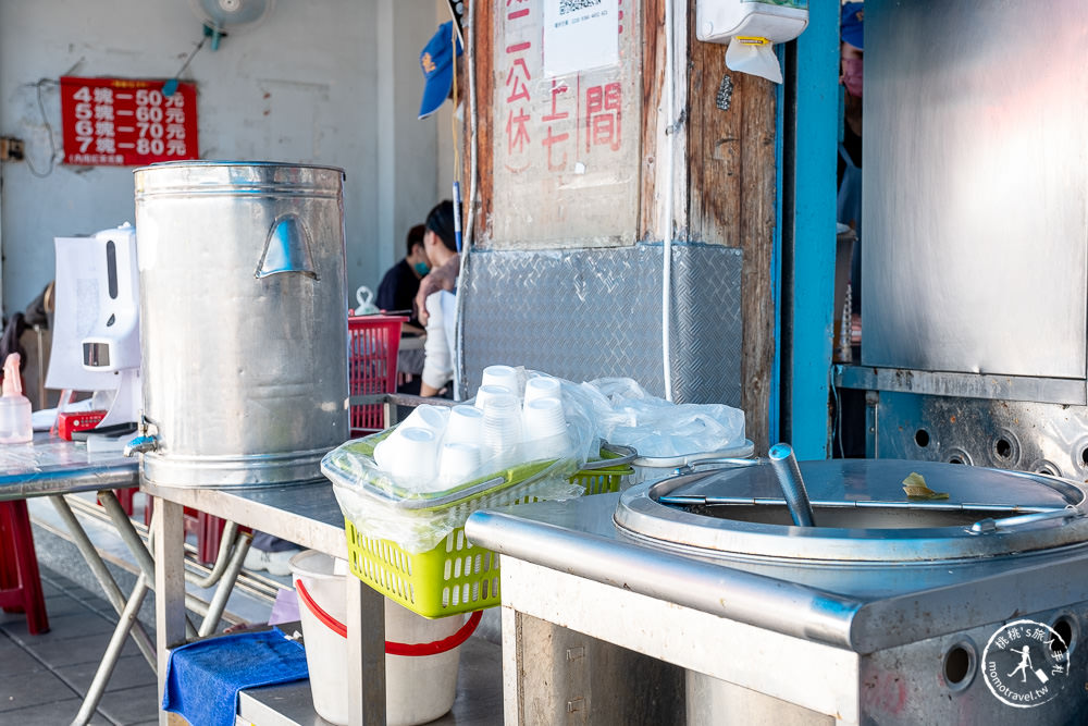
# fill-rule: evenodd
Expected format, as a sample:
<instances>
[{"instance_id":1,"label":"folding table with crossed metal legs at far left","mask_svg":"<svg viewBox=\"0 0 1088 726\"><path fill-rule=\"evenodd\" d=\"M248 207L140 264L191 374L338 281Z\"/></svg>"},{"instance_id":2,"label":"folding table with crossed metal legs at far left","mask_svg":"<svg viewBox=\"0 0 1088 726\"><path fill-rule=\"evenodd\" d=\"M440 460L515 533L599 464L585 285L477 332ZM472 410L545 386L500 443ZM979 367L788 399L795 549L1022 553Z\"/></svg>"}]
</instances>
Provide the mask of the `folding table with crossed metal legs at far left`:
<instances>
[{"instance_id":1,"label":"folding table with crossed metal legs at far left","mask_svg":"<svg viewBox=\"0 0 1088 726\"><path fill-rule=\"evenodd\" d=\"M139 603L146 594L146 585L141 586L144 579L137 582L132 595L125 598L90 538L87 537L87 532L64 500L64 495L98 492L99 500L128 547L137 558L138 551L143 551L144 557L150 559L132 521L113 494L114 489L137 487L139 487L137 464L133 459L123 457L120 452L88 453L86 444L51 438L47 433L35 434L34 441L28 444L0 446L0 501L48 496L72 534L79 553L102 586L107 600L120 617L110 645L74 723L86 723L95 713L106 685L113 674L121 648L129 635L152 669L156 666L156 654L151 639L136 620Z\"/></svg>"}]
</instances>

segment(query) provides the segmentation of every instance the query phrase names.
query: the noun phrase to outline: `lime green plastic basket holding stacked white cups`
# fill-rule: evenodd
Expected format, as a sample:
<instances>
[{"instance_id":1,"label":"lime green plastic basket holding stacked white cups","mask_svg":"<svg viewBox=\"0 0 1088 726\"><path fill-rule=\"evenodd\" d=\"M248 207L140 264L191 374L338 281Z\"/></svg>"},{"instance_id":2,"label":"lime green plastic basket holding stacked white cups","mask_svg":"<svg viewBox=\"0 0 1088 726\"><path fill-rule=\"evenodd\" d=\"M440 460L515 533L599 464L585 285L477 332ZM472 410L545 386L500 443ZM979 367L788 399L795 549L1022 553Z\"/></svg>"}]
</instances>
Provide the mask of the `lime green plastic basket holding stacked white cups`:
<instances>
[{"instance_id":1,"label":"lime green plastic basket holding stacked white cups","mask_svg":"<svg viewBox=\"0 0 1088 726\"><path fill-rule=\"evenodd\" d=\"M571 477L584 483L586 494L619 491L634 473L634 453L601 450L602 458ZM535 502L532 496L514 504ZM498 553L475 546L458 527L433 550L406 552L390 540L367 537L345 520L348 567L351 574L386 598L423 617L445 617L493 607L502 603Z\"/></svg>"}]
</instances>

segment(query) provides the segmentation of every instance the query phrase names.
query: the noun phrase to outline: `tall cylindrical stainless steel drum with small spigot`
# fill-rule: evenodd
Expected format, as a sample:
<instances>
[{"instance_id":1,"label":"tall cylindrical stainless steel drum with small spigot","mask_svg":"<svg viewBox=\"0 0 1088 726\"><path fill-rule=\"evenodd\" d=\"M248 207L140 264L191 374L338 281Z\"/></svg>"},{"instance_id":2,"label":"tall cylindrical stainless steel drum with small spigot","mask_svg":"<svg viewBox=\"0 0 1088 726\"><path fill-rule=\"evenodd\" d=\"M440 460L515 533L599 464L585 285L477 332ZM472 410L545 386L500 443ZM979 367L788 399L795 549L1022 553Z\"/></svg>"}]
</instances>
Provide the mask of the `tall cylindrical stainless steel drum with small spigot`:
<instances>
[{"instance_id":1,"label":"tall cylindrical stainless steel drum with small spigot","mask_svg":"<svg viewBox=\"0 0 1088 726\"><path fill-rule=\"evenodd\" d=\"M313 480L348 438L343 180L263 162L135 171L147 480Z\"/></svg>"}]
</instances>

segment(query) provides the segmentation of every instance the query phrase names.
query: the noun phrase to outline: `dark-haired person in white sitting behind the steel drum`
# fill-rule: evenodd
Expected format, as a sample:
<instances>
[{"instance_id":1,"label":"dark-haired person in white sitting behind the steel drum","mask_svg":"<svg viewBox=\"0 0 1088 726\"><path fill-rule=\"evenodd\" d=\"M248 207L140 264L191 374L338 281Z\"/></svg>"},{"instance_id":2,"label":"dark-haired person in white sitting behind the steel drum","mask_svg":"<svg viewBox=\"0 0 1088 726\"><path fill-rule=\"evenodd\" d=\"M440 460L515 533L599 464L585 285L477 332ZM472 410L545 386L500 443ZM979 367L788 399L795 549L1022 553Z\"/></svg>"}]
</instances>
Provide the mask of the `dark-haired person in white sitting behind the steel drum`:
<instances>
[{"instance_id":1,"label":"dark-haired person in white sitting behind the steel drum","mask_svg":"<svg viewBox=\"0 0 1088 726\"><path fill-rule=\"evenodd\" d=\"M441 268L457 257L454 236L454 202L441 202L426 216L423 247L428 259ZM428 296L425 303L426 344L423 358L421 396L452 395L456 329L456 297L445 291ZM422 311L421 311L422 312ZM421 315L422 317L422 315Z\"/></svg>"}]
</instances>

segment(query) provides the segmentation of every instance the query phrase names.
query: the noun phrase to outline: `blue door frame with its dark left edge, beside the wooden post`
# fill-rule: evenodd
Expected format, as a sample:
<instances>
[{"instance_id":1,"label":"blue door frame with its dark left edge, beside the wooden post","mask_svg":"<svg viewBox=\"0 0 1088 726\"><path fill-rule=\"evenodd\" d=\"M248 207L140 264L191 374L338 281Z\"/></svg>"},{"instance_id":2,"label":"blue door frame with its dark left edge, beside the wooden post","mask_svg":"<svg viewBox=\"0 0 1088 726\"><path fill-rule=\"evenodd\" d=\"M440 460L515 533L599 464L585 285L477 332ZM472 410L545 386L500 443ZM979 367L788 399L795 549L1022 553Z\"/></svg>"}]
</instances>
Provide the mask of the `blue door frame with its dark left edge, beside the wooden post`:
<instances>
[{"instance_id":1,"label":"blue door frame with its dark left edge, beside the wooden post","mask_svg":"<svg viewBox=\"0 0 1088 726\"><path fill-rule=\"evenodd\" d=\"M828 456L839 139L839 3L812 2L808 27L780 49L778 309L771 440L801 459ZM776 418L777 415L777 418Z\"/></svg>"}]
</instances>

